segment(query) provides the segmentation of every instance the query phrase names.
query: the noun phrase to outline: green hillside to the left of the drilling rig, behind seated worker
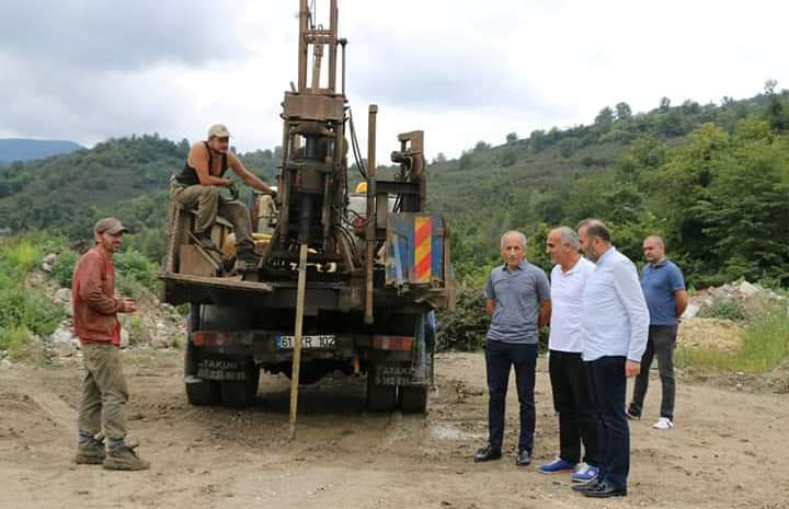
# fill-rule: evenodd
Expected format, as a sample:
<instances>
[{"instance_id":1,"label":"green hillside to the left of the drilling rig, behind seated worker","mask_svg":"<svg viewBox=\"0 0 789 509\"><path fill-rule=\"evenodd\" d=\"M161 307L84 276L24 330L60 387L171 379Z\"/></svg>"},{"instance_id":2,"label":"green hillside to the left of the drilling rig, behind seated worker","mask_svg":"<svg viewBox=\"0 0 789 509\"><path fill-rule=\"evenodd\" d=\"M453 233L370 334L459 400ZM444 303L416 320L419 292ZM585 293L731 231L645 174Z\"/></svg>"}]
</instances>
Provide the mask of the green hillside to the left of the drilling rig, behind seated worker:
<instances>
[{"instance_id":1,"label":"green hillside to the left of the drilling rig, behind seated worker","mask_svg":"<svg viewBox=\"0 0 789 509\"><path fill-rule=\"evenodd\" d=\"M185 139L175 143L146 135L0 167L0 228L53 228L81 239L100 217L116 215L136 231L158 230L170 175L181 171L187 152ZM250 170L271 178L274 155L262 150L241 158Z\"/></svg>"}]
</instances>

